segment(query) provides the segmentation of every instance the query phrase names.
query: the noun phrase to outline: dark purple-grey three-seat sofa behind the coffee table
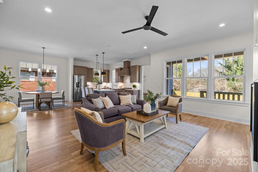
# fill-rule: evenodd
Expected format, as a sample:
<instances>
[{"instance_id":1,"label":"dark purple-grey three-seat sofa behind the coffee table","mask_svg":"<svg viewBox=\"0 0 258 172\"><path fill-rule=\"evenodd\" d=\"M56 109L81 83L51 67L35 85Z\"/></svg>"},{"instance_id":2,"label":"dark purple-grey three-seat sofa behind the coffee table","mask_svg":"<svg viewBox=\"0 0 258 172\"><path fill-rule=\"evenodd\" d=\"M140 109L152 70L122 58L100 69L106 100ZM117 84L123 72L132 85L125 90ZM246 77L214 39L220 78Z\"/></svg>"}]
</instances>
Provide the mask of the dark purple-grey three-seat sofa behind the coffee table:
<instances>
[{"instance_id":1,"label":"dark purple-grey three-seat sofa behind the coffee table","mask_svg":"<svg viewBox=\"0 0 258 172\"><path fill-rule=\"evenodd\" d=\"M125 105L125 106L120 105L119 95L128 95L128 94L130 93L115 92L115 93L88 94L85 98L82 99L82 107L96 112L103 112L106 123L110 123L120 119L125 119L124 117L121 116L122 114L143 109L143 105L146 103L145 100L136 99L137 104ZM115 105L114 107L110 107L108 109L106 108L100 109L99 107L95 106L92 103L91 99L96 99L98 97L106 97L106 96L110 98L112 103Z\"/></svg>"}]
</instances>

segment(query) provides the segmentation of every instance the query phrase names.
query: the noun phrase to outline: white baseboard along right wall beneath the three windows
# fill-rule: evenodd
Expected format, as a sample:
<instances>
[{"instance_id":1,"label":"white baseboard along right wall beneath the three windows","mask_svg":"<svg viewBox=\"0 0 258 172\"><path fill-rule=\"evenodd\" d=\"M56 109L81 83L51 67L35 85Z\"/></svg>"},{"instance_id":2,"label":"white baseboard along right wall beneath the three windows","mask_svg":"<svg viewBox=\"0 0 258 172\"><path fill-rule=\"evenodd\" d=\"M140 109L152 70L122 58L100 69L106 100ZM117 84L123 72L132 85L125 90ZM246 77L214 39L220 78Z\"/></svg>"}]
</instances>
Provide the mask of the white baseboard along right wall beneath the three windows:
<instances>
[{"instance_id":1,"label":"white baseboard along right wall beneath the three windows","mask_svg":"<svg viewBox=\"0 0 258 172\"><path fill-rule=\"evenodd\" d=\"M227 116L227 115L222 115L222 114L214 114L214 113L210 113L210 112L203 112L203 111L184 109L184 108L183 108L182 112L250 125L250 119L248 119L248 118L239 118L236 116ZM237 121L237 120L241 120L241 121Z\"/></svg>"}]
</instances>

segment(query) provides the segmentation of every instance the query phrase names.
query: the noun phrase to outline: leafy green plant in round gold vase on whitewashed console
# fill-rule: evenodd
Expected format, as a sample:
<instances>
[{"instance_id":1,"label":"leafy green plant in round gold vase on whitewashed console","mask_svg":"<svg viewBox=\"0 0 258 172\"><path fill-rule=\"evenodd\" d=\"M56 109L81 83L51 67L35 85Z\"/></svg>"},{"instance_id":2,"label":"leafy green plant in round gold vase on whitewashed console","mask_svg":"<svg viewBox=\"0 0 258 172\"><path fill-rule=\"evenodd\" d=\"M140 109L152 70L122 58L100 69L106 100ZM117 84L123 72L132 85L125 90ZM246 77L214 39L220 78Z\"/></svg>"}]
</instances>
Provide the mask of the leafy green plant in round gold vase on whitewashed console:
<instances>
[{"instance_id":1,"label":"leafy green plant in round gold vase on whitewashed console","mask_svg":"<svg viewBox=\"0 0 258 172\"><path fill-rule=\"evenodd\" d=\"M0 71L0 124L10 122L18 113L17 106L10 102L10 99L13 99L13 97L6 95L6 91L12 89L19 90L21 87L21 85L13 85L15 81L10 81L10 79L15 78L11 75L10 69L13 68L7 68L4 66L4 71ZM5 101L1 102L1 99Z\"/></svg>"}]
</instances>

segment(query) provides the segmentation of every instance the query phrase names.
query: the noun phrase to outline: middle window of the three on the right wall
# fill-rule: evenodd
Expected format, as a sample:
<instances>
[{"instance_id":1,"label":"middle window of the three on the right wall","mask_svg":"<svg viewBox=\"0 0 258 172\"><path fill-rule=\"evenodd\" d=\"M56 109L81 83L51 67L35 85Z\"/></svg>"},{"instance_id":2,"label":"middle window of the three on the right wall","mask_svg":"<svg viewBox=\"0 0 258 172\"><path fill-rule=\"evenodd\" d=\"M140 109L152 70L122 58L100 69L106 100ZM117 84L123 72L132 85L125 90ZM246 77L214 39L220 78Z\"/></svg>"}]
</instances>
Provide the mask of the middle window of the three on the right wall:
<instances>
[{"instance_id":1,"label":"middle window of the three on the right wall","mask_svg":"<svg viewBox=\"0 0 258 172\"><path fill-rule=\"evenodd\" d=\"M208 56L188 58L186 96L207 98Z\"/></svg>"}]
</instances>

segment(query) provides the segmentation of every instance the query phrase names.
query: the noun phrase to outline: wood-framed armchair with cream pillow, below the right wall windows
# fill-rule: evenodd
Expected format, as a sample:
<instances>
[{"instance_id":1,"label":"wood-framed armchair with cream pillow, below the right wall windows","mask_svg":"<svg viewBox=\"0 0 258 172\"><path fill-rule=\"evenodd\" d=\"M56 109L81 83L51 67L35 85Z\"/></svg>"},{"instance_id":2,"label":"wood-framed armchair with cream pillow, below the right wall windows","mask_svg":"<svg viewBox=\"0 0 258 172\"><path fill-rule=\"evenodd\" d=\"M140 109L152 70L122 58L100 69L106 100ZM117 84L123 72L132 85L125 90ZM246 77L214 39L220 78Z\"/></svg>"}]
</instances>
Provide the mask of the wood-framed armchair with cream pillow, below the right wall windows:
<instances>
[{"instance_id":1,"label":"wood-framed armchair with cream pillow, below the right wall windows","mask_svg":"<svg viewBox=\"0 0 258 172\"><path fill-rule=\"evenodd\" d=\"M170 112L169 114L175 115L176 116L176 123L177 123L177 116L178 115L179 115L180 120L182 120L181 114L182 114L183 99L180 95L170 95L170 96L171 97L179 97L179 103L177 104L177 107L167 106L167 101L168 101L168 98L169 98L169 96L167 96L164 100L159 101L159 109L169 111Z\"/></svg>"}]
</instances>

